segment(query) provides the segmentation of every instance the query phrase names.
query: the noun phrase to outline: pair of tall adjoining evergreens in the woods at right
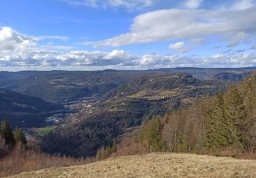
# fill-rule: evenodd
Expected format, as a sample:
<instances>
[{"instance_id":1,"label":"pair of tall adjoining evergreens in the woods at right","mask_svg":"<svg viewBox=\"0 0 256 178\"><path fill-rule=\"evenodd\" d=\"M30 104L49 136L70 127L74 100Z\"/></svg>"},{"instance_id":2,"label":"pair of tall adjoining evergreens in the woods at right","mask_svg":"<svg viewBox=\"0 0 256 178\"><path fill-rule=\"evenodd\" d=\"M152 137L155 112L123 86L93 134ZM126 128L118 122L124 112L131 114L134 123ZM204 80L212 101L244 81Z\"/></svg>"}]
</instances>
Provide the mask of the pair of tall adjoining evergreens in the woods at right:
<instances>
[{"instance_id":1,"label":"pair of tall adjoining evergreens in the woods at right","mask_svg":"<svg viewBox=\"0 0 256 178\"><path fill-rule=\"evenodd\" d=\"M218 94L208 112L205 147L242 148L245 123L248 120L244 98L237 88L230 88L225 99Z\"/></svg>"}]
</instances>

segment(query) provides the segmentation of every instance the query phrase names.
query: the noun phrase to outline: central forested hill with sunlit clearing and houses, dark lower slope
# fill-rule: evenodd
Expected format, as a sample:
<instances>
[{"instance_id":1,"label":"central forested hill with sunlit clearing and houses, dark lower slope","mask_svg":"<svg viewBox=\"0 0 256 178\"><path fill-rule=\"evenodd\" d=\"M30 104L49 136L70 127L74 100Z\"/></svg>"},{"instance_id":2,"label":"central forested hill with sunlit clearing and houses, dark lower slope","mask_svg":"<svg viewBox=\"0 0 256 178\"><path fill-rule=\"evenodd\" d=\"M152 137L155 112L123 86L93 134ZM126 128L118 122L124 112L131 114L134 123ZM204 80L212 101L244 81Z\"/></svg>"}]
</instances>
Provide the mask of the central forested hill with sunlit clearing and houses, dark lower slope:
<instances>
[{"instance_id":1,"label":"central forested hill with sunlit clearing and houses, dark lower slope","mask_svg":"<svg viewBox=\"0 0 256 178\"><path fill-rule=\"evenodd\" d=\"M42 149L76 157L96 155L98 148L119 141L127 129L140 126L153 115L188 107L196 97L217 94L229 84L195 79L186 73L137 77L111 90L91 113L81 112L66 120L66 126L44 138Z\"/></svg>"}]
</instances>

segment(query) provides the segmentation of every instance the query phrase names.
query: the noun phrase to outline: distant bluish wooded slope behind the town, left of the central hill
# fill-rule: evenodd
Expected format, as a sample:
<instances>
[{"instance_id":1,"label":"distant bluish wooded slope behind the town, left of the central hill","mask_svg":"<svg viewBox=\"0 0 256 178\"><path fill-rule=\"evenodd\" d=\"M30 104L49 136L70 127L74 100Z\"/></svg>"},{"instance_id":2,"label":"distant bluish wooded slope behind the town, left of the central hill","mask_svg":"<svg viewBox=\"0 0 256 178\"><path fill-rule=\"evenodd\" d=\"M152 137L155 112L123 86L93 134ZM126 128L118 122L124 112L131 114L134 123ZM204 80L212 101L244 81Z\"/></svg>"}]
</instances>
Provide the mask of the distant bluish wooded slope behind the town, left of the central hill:
<instances>
[{"instance_id":1,"label":"distant bluish wooded slope behind the town, left of the central hill","mask_svg":"<svg viewBox=\"0 0 256 178\"><path fill-rule=\"evenodd\" d=\"M10 79L0 79L1 88L40 97L53 103L65 103L93 95L101 96L137 76L137 72L131 71L49 71L22 74L12 73Z\"/></svg>"}]
</instances>

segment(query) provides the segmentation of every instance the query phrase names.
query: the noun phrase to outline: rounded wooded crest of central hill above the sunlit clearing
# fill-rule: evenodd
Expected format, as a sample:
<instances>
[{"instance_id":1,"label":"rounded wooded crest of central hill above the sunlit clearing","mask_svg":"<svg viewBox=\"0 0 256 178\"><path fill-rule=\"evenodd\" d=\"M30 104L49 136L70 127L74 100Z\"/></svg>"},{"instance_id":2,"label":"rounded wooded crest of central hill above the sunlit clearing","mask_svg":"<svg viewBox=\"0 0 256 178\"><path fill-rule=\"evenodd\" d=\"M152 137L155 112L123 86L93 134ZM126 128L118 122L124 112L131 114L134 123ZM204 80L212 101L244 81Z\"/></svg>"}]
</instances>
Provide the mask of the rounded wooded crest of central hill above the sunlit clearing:
<instances>
[{"instance_id":1,"label":"rounded wooded crest of central hill above the sunlit clearing","mask_svg":"<svg viewBox=\"0 0 256 178\"><path fill-rule=\"evenodd\" d=\"M188 73L145 75L132 79L105 94L105 99L120 99L140 91L184 90L204 86L206 88L225 86L222 81L200 80Z\"/></svg>"}]
</instances>

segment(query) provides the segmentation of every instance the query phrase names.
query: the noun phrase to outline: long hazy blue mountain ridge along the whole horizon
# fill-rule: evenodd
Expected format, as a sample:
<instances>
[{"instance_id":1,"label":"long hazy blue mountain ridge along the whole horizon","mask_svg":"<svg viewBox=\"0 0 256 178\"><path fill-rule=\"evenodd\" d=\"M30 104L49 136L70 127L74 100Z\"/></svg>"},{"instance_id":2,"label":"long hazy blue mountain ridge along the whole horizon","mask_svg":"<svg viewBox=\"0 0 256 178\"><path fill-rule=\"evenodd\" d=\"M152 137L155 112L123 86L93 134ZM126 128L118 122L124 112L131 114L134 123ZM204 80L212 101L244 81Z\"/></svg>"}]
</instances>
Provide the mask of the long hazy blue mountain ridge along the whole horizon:
<instances>
[{"instance_id":1,"label":"long hazy blue mountain ridge along the whole horizon","mask_svg":"<svg viewBox=\"0 0 256 178\"><path fill-rule=\"evenodd\" d=\"M0 87L40 97L53 103L65 103L91 95L102 96L120 84L145 75L184 72L196 79L223 79L237 82L243 80L252 71L256 71L256 67L184 67L145 71L111 69L104 71L2 71L0 72Z\"/></svg>"}]
</instances>

